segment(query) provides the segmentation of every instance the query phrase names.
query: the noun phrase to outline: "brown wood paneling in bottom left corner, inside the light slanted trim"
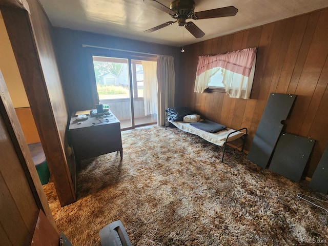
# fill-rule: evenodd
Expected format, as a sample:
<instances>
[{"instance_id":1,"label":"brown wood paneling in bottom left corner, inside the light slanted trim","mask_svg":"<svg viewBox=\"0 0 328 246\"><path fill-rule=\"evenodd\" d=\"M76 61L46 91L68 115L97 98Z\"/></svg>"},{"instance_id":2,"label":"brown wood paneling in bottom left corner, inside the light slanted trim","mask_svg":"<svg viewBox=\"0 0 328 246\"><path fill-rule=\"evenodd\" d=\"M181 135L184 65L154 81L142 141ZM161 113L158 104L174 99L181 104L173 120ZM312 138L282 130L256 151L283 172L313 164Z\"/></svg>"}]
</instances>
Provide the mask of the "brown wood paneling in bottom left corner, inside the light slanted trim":
<instances>
[{"instance_id":1,"label":"brown wood paneling in bottom left corner, inside the light slanted trim","mask_svg":"<svg viewBox=\"0 0 328 246\"><path fill-rule=\"evenodd\" d=\"M1 241L2 245L27 245L32 239L38 207L1 114L0 131Z\"/></svg>"}]
</instances>

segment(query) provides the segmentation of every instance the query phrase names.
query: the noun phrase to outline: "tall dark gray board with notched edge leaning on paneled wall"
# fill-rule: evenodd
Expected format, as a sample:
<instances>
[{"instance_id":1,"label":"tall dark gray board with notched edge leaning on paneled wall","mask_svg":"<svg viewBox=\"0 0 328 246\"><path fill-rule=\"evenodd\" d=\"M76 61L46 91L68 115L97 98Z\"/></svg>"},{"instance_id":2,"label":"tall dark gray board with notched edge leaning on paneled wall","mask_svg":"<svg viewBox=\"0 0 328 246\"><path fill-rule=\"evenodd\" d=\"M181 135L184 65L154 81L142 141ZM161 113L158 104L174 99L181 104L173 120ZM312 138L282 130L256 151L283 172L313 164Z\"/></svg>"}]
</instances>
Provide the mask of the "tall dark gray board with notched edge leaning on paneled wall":
<instances>
[{"instance_id":1,"label":"tall dark gray board with notched edge leaning on paneled wall","mask_svg":"<svg viewBox=\"0 0 328 246\"><path fill-rule=\"evenodd\" d=\"M281 122L286 120L296 95L271 93L255 132L248 159L262 168L270 162L273 150L283 130Z\"/></svg>"}]
</instances>

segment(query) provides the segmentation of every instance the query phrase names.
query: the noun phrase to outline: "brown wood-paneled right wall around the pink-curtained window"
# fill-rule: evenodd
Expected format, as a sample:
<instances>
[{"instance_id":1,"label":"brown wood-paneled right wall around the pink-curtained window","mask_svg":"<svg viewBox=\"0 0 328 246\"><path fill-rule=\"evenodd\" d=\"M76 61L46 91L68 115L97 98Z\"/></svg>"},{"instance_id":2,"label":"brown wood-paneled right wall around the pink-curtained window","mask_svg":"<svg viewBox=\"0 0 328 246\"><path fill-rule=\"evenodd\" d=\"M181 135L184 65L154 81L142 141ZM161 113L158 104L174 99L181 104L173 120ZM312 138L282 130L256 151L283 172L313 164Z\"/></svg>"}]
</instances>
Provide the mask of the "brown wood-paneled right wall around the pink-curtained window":
<instances>
[{"instance_id":1,"label":"brown wood-paneled right wall around the pink-curtained window","mask_svg":"<svg viewBox=\"0 0 328 246\"><path fill-rule=\"evenodd\" d=\"M285 132L316 139L304 171L311 177L328 144L327 23L328 9L322 9L186 46L180 58L178 104L231 128L247 127L249 150L270 93L296 94ZM258 47L251 99L233 99L220 92L194 93L198 56L250 47Z\"/></svg>"}]
</instances>

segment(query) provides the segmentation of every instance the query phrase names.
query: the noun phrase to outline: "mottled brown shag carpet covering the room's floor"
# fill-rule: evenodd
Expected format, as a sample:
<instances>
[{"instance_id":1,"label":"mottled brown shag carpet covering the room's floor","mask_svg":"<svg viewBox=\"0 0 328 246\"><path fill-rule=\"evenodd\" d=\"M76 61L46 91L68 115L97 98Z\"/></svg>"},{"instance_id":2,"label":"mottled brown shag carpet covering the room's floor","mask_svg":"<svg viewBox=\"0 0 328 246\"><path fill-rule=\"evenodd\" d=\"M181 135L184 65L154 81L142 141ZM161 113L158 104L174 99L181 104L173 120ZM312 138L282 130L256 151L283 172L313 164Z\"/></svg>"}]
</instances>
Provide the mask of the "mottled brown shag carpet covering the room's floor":
<instances>
[{"instance_id":1,"label":"mottled brown shag carpet covering the room's floor","mask_svg":"<svg viewBox=\"0 0 328 246\"><path fill-rule=\"evenodd\" d=\"M122 144L122 161L115 152L80 163L75 203L61 208L53 183L44 186L74 246L100 245L99 230L115 220L134 246L328 244L328 213L297 193L327 197L305 182L239 151L221 163L220 147L175 128L122 132Z\"/></svg>"}]
</instances>

